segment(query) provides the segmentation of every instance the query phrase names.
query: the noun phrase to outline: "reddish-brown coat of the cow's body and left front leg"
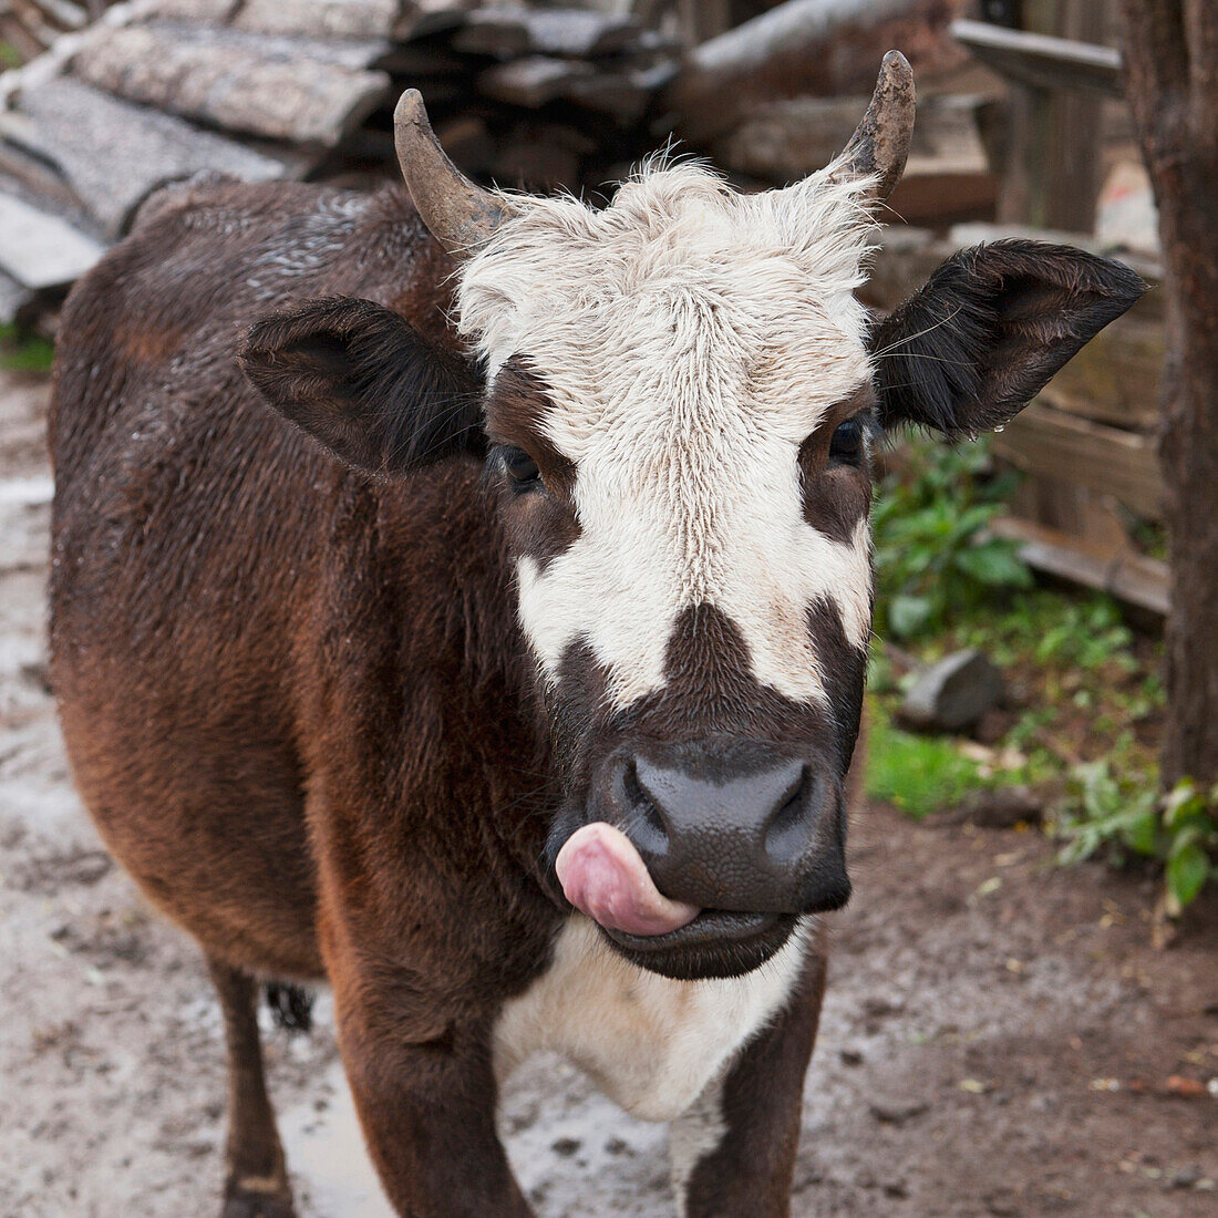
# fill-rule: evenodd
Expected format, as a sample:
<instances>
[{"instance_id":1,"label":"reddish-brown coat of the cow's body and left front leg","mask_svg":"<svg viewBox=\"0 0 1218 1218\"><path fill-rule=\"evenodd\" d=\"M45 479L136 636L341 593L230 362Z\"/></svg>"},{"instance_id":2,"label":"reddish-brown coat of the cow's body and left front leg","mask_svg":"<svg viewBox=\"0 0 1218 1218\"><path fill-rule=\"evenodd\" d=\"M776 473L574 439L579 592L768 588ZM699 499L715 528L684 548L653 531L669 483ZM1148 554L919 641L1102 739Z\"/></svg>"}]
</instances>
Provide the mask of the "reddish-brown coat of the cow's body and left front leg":
<instances>
[{"instance_id":1,"label":"reddish-brown coat of the cow's body and left front leg","mask_svg":"<svg viewBox=\"0 0 1218 1218\"><path fill-rule=\"evenodd\" d=\"M329 977L395 1205L482 1216L525 1212L488 1028L560 920L490 492L468 458L339 465L233 359L263 313L334 292L452 348L449 272L402 191L158 207L65 311L51 643L113 853L222 965ZM116 328L192 340L147 359Z\"/></svg>"}]
</instances>

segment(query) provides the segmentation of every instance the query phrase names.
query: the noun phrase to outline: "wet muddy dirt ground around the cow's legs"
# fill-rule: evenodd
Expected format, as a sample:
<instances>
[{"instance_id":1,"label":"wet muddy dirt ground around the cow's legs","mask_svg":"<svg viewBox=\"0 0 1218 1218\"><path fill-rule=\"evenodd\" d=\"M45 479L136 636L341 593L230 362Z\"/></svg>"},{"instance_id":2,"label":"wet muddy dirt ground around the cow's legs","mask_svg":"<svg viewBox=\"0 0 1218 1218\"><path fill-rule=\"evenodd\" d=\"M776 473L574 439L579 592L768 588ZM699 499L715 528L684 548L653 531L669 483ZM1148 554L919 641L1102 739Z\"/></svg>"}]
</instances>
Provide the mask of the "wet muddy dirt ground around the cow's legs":
<instances>
[{"instance_id":1,"label":"wet muddy dirt ground around the cow's legs","mask_svg":"<svg viewBox=\"0 0 1218 1218\"><path fill-rule=\"evenodd\" d=\"M45 685L45 393L0 379L0 1216L214 1218L219 1011L100 849ZM867 808L853 833L793 1213L1218 1213L1218 903L1156 951L1150 881L1058 870L1034 832ZM267 1021L301 1211L384 1218L318 1016ZM672 1212L664 1130L572 1069L530 1066L503 1127L543 1218Z\"/></svg>"}]
</instances>

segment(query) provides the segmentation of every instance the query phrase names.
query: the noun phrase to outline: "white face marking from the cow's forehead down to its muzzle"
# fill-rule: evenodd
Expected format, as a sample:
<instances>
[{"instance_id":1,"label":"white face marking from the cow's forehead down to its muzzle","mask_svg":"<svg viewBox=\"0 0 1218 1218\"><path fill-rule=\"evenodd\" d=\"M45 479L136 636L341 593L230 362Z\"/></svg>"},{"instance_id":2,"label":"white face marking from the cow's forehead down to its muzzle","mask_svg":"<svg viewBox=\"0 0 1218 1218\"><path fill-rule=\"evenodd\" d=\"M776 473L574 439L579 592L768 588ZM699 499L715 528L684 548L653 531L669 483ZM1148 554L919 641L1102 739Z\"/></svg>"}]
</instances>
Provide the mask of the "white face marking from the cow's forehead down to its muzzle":
<instances>
[{"instance_id":1,"label":"white face marking from the cow's forehead down to its muzzle","mask_svg":"<svg viewBox=\"0 0 1218 1218\"><path fill-rule=\"evenodd\" d=\"M531 200L466 266L463 330L491 373L526 357L575 466L579 538L519 564L520 619L553 677L586 639L625 705L664 685L678 615L713 604L753 676L823 700L808 632L818 599L870 628L870 538L803 516L798 453L870 376L865 184L816 175L738 195L697 166L646 172L592 212Z\"/></svg>"}]
</instances>

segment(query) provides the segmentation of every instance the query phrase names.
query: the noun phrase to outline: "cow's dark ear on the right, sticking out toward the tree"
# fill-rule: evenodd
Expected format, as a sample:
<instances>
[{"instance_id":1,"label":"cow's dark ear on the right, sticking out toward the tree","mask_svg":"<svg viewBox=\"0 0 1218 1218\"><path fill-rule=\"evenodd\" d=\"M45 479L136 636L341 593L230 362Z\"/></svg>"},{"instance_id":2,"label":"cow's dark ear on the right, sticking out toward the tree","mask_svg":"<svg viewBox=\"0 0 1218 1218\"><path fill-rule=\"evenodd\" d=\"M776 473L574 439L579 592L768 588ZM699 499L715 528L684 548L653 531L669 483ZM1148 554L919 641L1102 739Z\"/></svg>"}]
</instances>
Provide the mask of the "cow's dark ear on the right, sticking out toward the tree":
<instances>
[{"instance_id":1,"label":"cow's dark ear on the right, sticking out toward the tree","mask_svg":"<svg viewBox=\"0 0 1218 1218\"><path fill-rule=\"evenodd\" d=\"M961 250L872 335L884 424L956 437L1006 423L1145 290L1128 267L1069 246Z\"/></svg>"}]
</instances>

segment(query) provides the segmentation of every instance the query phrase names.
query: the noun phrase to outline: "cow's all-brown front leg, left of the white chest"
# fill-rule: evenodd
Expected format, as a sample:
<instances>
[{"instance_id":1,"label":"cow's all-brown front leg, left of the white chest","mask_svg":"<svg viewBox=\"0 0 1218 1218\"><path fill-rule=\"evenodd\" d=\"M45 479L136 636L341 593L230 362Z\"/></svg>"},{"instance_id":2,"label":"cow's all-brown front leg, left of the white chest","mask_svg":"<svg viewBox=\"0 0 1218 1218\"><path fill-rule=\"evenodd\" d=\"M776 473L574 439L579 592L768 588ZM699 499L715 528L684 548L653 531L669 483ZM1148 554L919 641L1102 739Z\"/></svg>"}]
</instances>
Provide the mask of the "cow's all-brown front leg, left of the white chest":
<instances>
[{"instance_id":1,"label":"cow's all-brown front leg, left of the white chest","mask_svg":"<svg viewBox=\"0 0 1218 1218\"><path fill-rule=\"evenodd\" d=\"M530 1218L495 1128L490 1029L401 1004L331 970L339 1045L364 1140L408 1218ZM403 988L406 988L403 985Z\"/></svg>"}]
</instances>

